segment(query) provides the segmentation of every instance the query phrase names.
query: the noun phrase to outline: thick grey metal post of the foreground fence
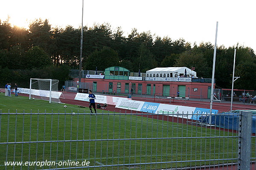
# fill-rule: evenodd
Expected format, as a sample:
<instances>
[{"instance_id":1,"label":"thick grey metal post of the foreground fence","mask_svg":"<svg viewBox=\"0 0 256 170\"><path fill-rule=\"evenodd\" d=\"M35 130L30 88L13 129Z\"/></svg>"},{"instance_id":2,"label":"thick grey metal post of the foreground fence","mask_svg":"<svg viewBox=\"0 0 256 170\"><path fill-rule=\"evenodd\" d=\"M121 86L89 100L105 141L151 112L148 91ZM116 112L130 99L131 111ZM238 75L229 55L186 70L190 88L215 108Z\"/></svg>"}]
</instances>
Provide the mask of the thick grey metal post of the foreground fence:
<instances>
[{"instance_id":1,"label":"thick grey metal post of the foreground fence","mask_svg":"<svg viewBox=\"0 0 256 170\"><path fill-rule=\"evenodd\" d=\"M250 170L252 112L239 112L238 170Z\"/></svg>"}]
</instances>

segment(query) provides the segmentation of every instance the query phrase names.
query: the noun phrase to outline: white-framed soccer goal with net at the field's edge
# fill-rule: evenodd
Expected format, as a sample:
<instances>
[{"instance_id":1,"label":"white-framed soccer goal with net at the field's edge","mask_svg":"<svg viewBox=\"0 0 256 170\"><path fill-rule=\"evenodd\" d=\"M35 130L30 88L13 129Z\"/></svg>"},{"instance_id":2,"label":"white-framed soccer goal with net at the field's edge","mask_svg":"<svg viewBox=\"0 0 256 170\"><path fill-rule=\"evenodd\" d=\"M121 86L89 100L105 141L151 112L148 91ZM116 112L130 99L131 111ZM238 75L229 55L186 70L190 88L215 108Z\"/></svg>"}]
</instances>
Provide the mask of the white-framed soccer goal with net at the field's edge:
<instances>
[{"instance_id":1,"label":"white-framed soccer goal with net at the field's edge","mask_svg":"<svg viewBox=\"0 0 256 170\"><path fill-rule=\"evenodd\" d=\"M52 102L61 102L61 92L58 92L56 79L30 79L29 99L43 99Z\"/></svg>"}]
</instances>

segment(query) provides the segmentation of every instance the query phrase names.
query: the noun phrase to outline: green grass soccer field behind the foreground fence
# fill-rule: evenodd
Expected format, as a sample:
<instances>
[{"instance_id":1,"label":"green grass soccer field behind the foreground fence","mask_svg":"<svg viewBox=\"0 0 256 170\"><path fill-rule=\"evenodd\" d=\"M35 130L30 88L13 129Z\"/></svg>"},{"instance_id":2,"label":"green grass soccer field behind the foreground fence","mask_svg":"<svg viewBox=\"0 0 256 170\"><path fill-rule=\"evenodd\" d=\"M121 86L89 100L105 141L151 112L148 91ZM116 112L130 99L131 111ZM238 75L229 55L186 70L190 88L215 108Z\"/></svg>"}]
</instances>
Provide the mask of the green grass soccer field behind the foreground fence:
<instances>
[{"instance_id":1,"label":"green grass soccer field behind the foreground fence","mask_svg":"<svg viewBox=\"0 0 256 170\"><path fill-rule=\"evenodd\" d=\"M237 136L236 133L152 119L150 116L108 111L90 115L88 108L49 104L24 96L0 94L0 101L0 170L5 169L6 160L86 159L90 166L96 166L93 169L127 169L128 164L135 164L130 167L139 170L236 162L237 158L237 138L233 137ZM78 114L72 116L72 112ZM202 159L230 160L195 161ZM145 164L137 165L140 163ZM124 166L104 167L110 164ZM31 166L29 169L43 168ZM13 167L7 166L7 169ZM28 167L16 166L14 169Z\"/></svg>"}]
</instances>

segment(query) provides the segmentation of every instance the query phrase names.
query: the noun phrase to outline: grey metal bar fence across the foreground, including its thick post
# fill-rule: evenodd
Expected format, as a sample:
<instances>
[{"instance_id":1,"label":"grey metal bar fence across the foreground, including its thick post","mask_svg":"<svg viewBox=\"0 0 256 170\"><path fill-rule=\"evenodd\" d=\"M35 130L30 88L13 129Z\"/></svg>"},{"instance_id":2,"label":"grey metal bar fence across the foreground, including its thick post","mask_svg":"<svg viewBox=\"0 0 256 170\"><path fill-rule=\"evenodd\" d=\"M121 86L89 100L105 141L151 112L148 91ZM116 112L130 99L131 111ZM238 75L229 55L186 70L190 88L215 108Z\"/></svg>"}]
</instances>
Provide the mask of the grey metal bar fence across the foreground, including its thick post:
<instances>
[{"instance_id":1,"label":"grey metal bar fence across the foreground, including its thick post","mask_svg":"<svg viewBox=\"0 0 256 170\"><path fill-rule=\"evenodd\" d=\"M189 115L1 113L0 169L255 169L251 112L239 114L237 130Z\"/></svg>"}]
</instances>

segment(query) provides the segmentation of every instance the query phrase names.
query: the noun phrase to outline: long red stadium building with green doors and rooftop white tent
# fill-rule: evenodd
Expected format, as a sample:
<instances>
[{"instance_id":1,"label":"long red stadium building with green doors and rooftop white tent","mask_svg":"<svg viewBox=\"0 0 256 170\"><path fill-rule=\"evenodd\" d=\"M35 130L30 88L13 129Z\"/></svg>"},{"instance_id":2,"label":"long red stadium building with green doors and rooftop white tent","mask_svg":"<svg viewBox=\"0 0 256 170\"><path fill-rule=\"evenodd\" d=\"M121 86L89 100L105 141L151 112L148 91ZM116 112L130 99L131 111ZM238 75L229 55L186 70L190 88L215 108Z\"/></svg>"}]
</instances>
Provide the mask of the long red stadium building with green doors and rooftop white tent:
<instances>
[{"instance_id":1,"label":"long red stadium building with green doors and rooftop white tent","mask_svg":"<svg viewBox=\"0 0 256 170\"><path fill-rule=\"evenodd\" d=\"M79 79L74 81L78 83ZM198 78L193 69L186 67L154 68L146 73L110 67L105 71L83 71L80 88L85 88L84 83L93 84L93 91L102 94L131 94L132 88L133 94L176 97L179 91L180 97L209 99L212 79Z\"/></svg>"}]
</instances>

